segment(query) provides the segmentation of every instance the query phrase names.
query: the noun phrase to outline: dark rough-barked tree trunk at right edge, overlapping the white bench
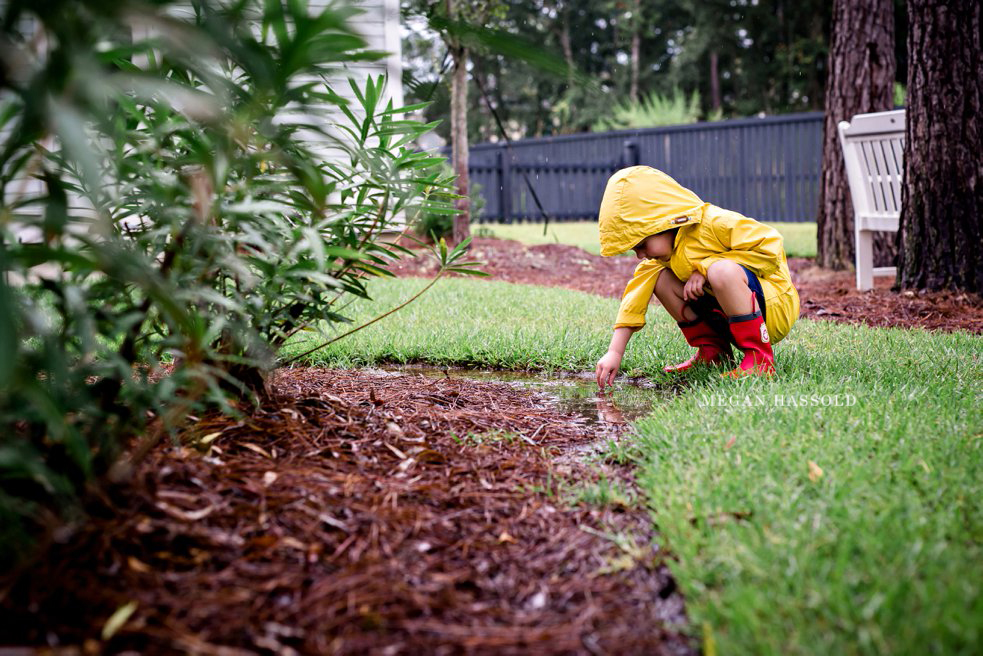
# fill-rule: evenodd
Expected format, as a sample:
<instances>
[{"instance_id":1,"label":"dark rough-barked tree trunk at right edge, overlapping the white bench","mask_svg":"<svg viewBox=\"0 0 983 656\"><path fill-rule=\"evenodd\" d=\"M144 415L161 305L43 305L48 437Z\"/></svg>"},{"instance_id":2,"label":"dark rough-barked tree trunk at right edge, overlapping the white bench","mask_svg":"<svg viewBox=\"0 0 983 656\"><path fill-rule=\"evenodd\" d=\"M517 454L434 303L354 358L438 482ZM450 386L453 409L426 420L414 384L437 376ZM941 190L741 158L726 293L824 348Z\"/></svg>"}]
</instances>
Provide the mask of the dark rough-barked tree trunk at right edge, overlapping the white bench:
<instances>
[{"instance_id":1,"label":"dark rough-barked tree trunk at right edge, overlapping the white bench","mask_svg":"<svg viewBox=\"0 0 983 656\"><path fill-rule=\"evenodd\" d=\"M983 293L983 47L978 0L908 1L898 233L905 289Z\"/></svg>"}]
</instances>

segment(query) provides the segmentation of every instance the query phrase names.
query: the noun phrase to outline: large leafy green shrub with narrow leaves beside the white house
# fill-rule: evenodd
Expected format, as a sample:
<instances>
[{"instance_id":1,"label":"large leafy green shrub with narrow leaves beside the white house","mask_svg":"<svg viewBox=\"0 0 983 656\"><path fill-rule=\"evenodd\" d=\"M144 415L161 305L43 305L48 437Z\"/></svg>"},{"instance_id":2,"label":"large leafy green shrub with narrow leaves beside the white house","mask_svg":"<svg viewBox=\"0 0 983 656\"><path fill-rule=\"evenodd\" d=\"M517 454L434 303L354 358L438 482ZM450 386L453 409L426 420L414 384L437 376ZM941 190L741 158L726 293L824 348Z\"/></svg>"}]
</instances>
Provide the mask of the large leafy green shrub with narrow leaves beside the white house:
<instances>
[{"instance_id":1,"label":"large leafy green shrub with narrow leaves beside the white house","mask_svg":"<svg viewBox=\"0 0 983 656\"><path fill-rule=\"evenodd\" d=\"M127 438L262 395L284 341L347 321L339 302L403 252L380 233L449 207L443 158L407 148L432 126L383 105L381 78L351 103L332 86L381 56L351 10L191 7L4 5L22 64L0 79L4 562L77 512Z\"/></svg>"}]
</instances>

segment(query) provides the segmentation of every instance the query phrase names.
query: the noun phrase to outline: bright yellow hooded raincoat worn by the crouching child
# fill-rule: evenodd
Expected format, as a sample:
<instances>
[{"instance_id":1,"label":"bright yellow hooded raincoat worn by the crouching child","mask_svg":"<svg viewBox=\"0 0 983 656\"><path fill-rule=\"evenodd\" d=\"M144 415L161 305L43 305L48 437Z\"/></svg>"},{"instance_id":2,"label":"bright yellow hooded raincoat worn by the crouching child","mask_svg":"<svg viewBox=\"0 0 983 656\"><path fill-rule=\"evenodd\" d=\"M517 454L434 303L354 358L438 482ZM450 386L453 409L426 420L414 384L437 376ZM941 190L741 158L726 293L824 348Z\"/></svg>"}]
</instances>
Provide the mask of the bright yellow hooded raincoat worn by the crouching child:
<instances>
[{"instance_id":1,"label":"bright yellow hooded raincoat worn by the crouching child","mask_svg":"<svg viewBox=\"0 0 983 656\"><path fill-rule=\"evenodd\" d=\"M601 255L623 253L649 235L679 228L668 263L643 260L635 268L621 299L616 328L645 325L645 310L663 269L671 269L685 282L694 271L706 276L707 268L721 259L747 267L761 281L765 323L773 344L788 335L799 318L799 294L792 286L782 236L774 228L704 203L648 166L632 166L611 176L599 214Z\"/></svg>"}]
</instances>

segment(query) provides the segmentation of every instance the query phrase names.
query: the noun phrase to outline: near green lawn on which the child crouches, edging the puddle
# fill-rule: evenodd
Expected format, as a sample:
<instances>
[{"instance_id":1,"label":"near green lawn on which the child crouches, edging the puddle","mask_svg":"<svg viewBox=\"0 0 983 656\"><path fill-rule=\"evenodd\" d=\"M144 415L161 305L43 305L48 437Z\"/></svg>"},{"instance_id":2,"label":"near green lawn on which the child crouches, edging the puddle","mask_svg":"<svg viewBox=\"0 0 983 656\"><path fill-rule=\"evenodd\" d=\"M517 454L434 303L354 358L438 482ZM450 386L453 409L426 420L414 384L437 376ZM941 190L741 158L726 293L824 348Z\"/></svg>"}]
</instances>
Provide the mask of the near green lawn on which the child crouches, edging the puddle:
<instances>
[{"instance_id":1,"label":"near green lawn on which the child crouches, edging the puddle","mask_svg":"<svg viewBox=\"0 0 983 656\"><path fill-rule=\"evenodd\" d=\"M374 284L377 311L422 284ZM310 363L593 371L616 309L446 280ZM623 368L667 380L662 365L691 349L649 314ZM776 355L775 380L690 375L617 451L676 557L694 633L723 654L980 653L983 338L800 320Z\"/></svg>"}]
</instances>

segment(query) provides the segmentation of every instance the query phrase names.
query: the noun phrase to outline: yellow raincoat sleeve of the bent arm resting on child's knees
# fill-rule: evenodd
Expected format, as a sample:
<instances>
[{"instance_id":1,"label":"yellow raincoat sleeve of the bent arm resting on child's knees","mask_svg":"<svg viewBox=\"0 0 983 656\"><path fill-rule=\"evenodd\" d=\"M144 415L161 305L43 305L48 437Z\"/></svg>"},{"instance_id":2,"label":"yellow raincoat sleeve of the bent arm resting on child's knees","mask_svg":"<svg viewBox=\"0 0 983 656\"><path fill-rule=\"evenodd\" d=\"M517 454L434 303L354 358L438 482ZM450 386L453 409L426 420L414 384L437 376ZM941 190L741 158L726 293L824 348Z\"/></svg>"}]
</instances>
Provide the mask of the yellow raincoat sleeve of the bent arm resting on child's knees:
<instances>
[{"instance_id":1,"label":"yellow raincoat sleeve of the bent arm resting on child's knees","mask_svg":"<svg viewBox=\"0 0 983 656\"><path fill-rule=\"evenodd\" d=\"M712 230L717 240L728 249L696 263L704 276L717 260L735 260L754 269L759 278L767 278L782 264L782 236L771 226L736 213L714 217Z\"/></svg>"}]
</instances>

